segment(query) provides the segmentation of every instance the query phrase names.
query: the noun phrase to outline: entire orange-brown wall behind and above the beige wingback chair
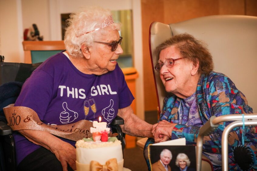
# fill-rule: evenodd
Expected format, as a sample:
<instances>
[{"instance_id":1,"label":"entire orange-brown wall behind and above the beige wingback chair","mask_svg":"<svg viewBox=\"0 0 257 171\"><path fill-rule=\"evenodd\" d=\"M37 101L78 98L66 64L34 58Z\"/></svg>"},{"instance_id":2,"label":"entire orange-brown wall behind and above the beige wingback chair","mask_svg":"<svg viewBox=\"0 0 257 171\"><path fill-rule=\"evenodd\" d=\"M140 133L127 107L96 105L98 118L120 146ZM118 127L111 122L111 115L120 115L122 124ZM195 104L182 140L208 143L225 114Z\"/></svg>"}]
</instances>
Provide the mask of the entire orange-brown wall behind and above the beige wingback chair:
<instances>
[{"instance_id":1,"label":"entire orange-brown wall behind and above the beige wingback chair","mask_svg":"<svg viewBox=\"0 0 257 171\"><path fill-rule=\"evenodd\" d=\"M207 15L257 16L256 0L141 0L141 7L146 111L156 110L158 106L149 53L149 26L153 21L170 24Z\"/></svg>"}]
</instances>

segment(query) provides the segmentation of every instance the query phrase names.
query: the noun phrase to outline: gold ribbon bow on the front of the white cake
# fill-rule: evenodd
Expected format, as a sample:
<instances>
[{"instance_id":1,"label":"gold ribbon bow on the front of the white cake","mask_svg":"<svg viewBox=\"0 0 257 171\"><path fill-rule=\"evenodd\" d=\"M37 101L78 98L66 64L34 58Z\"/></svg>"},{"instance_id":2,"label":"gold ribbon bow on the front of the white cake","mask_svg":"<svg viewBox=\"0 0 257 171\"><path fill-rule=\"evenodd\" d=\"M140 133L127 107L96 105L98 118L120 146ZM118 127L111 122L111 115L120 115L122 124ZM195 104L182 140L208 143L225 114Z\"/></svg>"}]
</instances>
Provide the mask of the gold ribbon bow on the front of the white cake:
<instances>
[{"instance_id":1,"label":"gold ribbon bow on the front of the white cake","mask_svg":"<svg viewBox=\"0 0 257 171\"><path fill-rule=\"evenodd\" d=\"M118 171L118 163L117 159L109 159L105 162L105 165L101 165L97 161L90 162L90 170L91 171Z\"/></svg>"}]
</instances>

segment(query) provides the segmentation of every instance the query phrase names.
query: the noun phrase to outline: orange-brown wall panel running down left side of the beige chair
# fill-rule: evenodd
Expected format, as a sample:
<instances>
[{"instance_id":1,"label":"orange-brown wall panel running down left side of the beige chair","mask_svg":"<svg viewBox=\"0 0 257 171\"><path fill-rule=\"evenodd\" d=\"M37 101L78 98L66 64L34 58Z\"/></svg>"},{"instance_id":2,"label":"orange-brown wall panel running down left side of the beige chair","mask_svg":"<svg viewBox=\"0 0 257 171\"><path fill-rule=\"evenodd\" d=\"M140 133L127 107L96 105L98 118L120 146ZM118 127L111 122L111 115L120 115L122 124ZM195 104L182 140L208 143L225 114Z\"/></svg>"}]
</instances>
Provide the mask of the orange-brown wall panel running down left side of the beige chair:
<instances>
[{"instance_id":1,"label":"orange-brown wall panel running down left side of the beige chair","mask_svg":"<svg viewBox=\"0 0 257 171\"><path fill-rule=\"evenodd\" d=\"M142 0L142 36L143 36L143 67L145 110L157 109L157 96L152 74L152 64L149 52L149 26L153 21L163 22L163 0Z\"/></svg>"}]
</instances>

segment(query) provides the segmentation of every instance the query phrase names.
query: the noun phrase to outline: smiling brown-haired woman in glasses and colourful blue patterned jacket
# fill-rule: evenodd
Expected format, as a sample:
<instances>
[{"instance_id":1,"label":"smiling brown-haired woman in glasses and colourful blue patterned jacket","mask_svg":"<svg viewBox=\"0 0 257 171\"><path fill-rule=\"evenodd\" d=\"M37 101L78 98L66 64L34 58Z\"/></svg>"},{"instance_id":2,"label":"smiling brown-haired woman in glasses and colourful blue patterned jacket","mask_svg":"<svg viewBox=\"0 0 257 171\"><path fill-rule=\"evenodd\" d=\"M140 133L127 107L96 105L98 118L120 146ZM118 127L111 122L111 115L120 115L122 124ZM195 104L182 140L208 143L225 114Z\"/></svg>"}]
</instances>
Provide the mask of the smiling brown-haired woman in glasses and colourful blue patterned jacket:
<instances>
[{"instance_id":1,"label":"smiling brown-haired woman in glasses and colourful blue patterned jacket","mask_svg":"<svg viewBox=\"0 0 257 171\"><path fill-rule=\"evenodd\" d=\"M201 126L211 116L235 113L252 113L252 108L235 84L224 74L213 71L212 56L206 46L189 34L175 35L156 48L159 56L155 69L166 92L160 122L152 129L154 139L150 143L168 139L186 138L187 144L196 145ZM210 135L204 137L203 154L207 156L214 169L221 168L221 135L224 122ZM256 129L248 127L245 145L256 151ZM232 147L241 143L239 128L229 136L229 167L237 169L232 156ZM147 157L146 157L146 160Z\"/></svg>"}]
</instances>

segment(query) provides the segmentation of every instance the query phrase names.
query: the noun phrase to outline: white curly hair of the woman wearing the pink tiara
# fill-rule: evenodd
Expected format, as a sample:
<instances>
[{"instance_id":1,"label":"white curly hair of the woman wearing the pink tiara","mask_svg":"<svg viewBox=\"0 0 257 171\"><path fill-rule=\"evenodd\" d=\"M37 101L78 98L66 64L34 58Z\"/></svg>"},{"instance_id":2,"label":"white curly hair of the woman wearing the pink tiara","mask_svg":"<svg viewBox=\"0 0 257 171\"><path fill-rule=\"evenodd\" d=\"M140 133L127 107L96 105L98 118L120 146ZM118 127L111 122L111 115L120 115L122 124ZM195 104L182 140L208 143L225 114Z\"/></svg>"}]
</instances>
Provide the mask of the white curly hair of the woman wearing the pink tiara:
<instances>
[{"instance_id":1,"label":"white curly hair of the woman wearing the pink tiara","mask_svg":"<svg viewBox=\"0 0 257 171\"><path fill-rule=\"evenodd\" d=\"M72 13L68 19L68 27L64 35L64 44L71 57L83 57L81 44L90 46L94 42L97 34L106 34L107 29L120 30L120 23L113 23L103 29L90 32L101 28L102 22L111 15L111 11L101 7L87 7L79 12ZM85 34L86 32L90 32Z\"/></svg>"}]
</instances>

